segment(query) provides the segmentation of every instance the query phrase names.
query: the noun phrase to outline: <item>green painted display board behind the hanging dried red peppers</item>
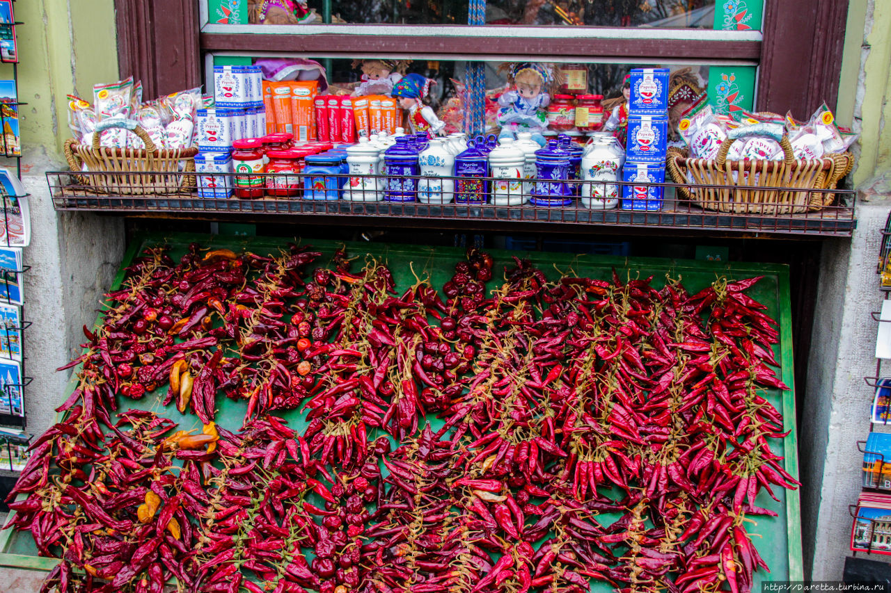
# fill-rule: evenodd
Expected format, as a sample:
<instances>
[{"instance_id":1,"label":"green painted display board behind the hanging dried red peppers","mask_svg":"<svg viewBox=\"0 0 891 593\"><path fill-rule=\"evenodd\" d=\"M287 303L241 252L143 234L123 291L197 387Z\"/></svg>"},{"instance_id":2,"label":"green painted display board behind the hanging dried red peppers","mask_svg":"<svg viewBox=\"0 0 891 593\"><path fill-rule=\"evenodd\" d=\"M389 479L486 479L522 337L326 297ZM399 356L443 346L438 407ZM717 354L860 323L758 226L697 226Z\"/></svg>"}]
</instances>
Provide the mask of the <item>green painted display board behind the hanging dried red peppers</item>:
<instances>
[{"instance_id":1,"label":"green painted display board behind the hanging dried red peppers","mask_svg":"<svg viewBox=\"0 0 891 593\"><path fill-rule=\"evenodd\" d=\"M143 245L157 245L166 238L171 246L171 256L176 258L184 253L188 242L198 241L208 248L231 248L235 251L249 249L258 254L276 253L288 240L272 239L266 237L233 238L220 235L192 235L178 234L167 236L148 236L137 238L127 250L127 254L121 264L114 283L110 289L119 287L123 280L123 268L129 264L137 248ZM343 243L334 241L317 240L312 242L316 250L322 251L324 256L320 264L327 263L336 248ZM365 254L378 257L386 262L396 280L397 292L413 285L414 274L423 278L429 276L434 286L441 286L451 277L454 262L462 259L463 250L460 248L424 248L410 246L395 246L379 243L347 243L347 253L350 256L360 256L360 262ZM516 251L490 250L495 257L495 269L500 270L505 264L511 263L511 256L519 256ZM660 258L628 258L616 256L569 256L564 254L552 254L543 252L531 252L525 256L538 266L549 277L558 276L558 269L568 271L570 268L578 274L593 278L609 279L615 269L620 278L644 278L653 276L653 285L661 288L665 282L666 274L672 278L682 277L684 286L691 292L705 288L719 276L727 276L729 279L743 279L755 275L764 275L755 287L748 290L748 295L767 305L765 311L773 319L781 324L781 344L775 348L778 360L782 363L781 377L787 385L792 386L792 345L791 345L791 309L789 304L789 270L787 266L777 264L725 264L715 262L700 262L693 260L671 260ZM411 266L410 266L411 264ZM73 389L69 384L69 391ZM200 423L193 415L183 416L171 405L163 409L160 401L163 395L159 392L149 394L139 401L122 400L125 408L149 409L163 413L168 418L180 423L181 429L199 428ZM792 475L797 475L797 445L795 440L795 397L794 391L779 393L769 392L767 398L781 410L786 418L787 429L792 431L783 441L776 443L774 451L786 457L786 469ZM67 397L64 394L60 402ZM237 429L241 426L246 405L244 402L233 402L228 398L217 399L217 422L229 429ZM282 413L287 418L290 426L302 428L305 423L296 410ZM434 419L438 424L438 421ZM432 424L432 423L431 423ZM441 425L440 425L441 426ZM377 435L373 435L377 436ZM369 435L372 438L372 435ZM756 524L749 524L747 529L753 533L753 540L771 567L771 573L758 573L755 577L754 587L758 587L761 581L800 581L803 578L801 556L801 529L797 491L777 491L781 503L773 502L766 493L759 495L756 503L764 508L776 511L777 517L753 517ZM8 534L7 530L4 534ZM28 532L16 532L0 539L0 565L21 566L23 558L34 556L36 548ZM29 561L31 562L31 561ZM48 568L52 566L51 560L43 561ZM596 583L595 590L607 591L609 587L603 583ZM756 589L757 590L757 589Z\"/></svg>"}]
</instances>

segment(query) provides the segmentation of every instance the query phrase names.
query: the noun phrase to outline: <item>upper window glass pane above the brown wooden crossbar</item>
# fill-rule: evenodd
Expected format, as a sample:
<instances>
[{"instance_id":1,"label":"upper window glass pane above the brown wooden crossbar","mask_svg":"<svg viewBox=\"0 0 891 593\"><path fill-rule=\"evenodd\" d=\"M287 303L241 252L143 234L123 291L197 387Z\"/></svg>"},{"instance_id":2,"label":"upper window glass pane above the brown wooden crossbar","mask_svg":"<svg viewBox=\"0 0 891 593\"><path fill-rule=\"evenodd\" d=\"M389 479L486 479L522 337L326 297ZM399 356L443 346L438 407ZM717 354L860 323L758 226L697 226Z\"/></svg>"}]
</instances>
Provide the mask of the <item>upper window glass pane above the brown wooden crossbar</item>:
<instances>
[{"instance_id":1,"label":"upper window glass pane above the brown wooden crossbar","mask_svg":"<svg viewBox=\"0 0 891 593\"><path fill-rule=\"evenodd\" d=\"M217 24L366 23L466 25L468 0L202 0ZM474 4L483 5L483 4ZM489 0L486 23L758 30L763 0Z\"/></svg>"}]
</instances>

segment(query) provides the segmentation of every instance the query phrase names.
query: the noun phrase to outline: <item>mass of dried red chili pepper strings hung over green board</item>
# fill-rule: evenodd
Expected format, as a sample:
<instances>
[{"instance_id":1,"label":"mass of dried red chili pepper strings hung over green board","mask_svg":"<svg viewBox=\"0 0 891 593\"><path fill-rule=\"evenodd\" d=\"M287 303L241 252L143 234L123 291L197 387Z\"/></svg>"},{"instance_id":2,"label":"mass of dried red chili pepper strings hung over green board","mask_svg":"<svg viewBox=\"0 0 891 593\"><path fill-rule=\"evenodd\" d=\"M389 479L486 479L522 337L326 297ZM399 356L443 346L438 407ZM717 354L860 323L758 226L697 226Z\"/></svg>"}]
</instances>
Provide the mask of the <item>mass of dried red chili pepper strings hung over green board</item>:
<instances>
[{"instance_id":1,"label":"mass of dried red chili pepper strings hung over green board","mask_svg":"<svg viewBox=\"0 0 891 593\"><path fill-rule=\"evenodd\" d=\"M61 558L45 591L737 593L767 570L746 524L797 482L758 279L550 281L471 250L398 294L383 262L320 256L129 266L10 503Z\"/></svg>"}]
</instances>

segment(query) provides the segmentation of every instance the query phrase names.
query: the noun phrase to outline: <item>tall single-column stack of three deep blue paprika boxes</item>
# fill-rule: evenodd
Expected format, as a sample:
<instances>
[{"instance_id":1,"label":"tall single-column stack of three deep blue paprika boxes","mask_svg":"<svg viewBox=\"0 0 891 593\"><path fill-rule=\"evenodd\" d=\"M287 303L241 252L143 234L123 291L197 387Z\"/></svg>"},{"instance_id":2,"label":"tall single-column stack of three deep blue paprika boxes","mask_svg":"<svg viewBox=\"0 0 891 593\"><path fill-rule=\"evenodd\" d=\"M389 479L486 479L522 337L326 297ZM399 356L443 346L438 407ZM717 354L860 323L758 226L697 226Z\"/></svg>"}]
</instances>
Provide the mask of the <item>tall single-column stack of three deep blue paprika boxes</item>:
<instances>
[{"instance_id":1,"label":"tall single-column stack of three deep blue paprika boxes","mask_svg":"<svg viewBox=\"0 0 891 593\"><path fill-rule=\"evenodd\" d=\"M668 149L667 68L631 71L628 135L625 142L625 183L665 183ZM660 210L665 188L622 186L623 210Z\"/></svg>"}]
</instances>

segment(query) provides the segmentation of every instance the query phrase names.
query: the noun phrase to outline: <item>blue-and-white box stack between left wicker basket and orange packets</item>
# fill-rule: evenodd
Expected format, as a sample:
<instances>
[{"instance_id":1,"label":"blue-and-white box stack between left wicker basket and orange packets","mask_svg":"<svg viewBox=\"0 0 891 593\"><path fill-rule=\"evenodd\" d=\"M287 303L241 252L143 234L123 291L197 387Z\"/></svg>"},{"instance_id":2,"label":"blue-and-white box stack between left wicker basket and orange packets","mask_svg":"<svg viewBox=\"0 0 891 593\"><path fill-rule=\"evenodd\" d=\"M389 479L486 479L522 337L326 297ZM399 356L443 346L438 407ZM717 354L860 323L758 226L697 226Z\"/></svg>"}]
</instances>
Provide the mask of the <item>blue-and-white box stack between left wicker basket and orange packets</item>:
<instances>
[{"instance_id":1,"label":"blue-and-white box stack between left wicker basket and orange packets","mask_svg":"<svg viewBox=\"0 0 891 593\"><path fill-rule=\"evenodd\" d=\"M200 198L232 195L232 143L266 135L263 76L259 66L215 66L214 107L198 110L195 170Z\"/></svg>"}]
</instances>

